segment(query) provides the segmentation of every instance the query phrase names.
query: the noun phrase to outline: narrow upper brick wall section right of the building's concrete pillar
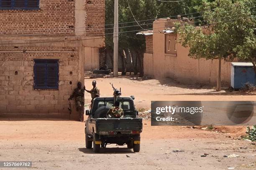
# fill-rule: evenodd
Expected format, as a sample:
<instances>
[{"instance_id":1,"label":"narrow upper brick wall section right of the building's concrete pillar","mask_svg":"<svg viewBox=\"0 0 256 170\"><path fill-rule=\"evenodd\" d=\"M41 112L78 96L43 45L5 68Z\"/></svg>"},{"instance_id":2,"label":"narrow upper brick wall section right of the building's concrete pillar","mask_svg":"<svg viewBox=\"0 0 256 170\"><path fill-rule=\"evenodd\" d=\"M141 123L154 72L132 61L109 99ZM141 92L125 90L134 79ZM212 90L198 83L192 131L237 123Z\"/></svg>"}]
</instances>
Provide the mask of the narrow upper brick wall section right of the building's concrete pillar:
<instances>
[{"instance_id":1,"label":"narrow upper brick wall section right of the building's concrete pillar","mask_svg":"<svg viewBox=\"0 0 256 170\"><path fill-rule=\"evenodd\" d=\"M105 0L86 0L85 11L87 35L104 34Z\"/></svg>"}]
</instances>

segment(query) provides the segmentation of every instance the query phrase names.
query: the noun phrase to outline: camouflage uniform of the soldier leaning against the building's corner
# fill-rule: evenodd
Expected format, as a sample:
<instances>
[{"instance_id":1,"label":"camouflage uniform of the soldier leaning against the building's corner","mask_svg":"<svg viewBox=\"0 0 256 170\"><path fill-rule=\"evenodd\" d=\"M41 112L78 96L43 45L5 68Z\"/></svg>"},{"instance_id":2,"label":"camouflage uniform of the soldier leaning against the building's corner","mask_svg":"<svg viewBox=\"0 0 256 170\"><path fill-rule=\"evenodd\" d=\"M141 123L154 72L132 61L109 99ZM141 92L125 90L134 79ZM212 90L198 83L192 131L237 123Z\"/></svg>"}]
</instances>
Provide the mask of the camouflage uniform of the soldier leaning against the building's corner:
<instances>
[{"instance_id":1,"label":"camouflage uniform of the soldier leaning against the building's corner","mask_svg":"<svg viewBox=\"0 0 256 170\"><path fill-rule=\"evenodd\" d=\"M84 109L84 89L76 88L69 99L75 100L77 112Z\"/></svg>"}]
</instances>

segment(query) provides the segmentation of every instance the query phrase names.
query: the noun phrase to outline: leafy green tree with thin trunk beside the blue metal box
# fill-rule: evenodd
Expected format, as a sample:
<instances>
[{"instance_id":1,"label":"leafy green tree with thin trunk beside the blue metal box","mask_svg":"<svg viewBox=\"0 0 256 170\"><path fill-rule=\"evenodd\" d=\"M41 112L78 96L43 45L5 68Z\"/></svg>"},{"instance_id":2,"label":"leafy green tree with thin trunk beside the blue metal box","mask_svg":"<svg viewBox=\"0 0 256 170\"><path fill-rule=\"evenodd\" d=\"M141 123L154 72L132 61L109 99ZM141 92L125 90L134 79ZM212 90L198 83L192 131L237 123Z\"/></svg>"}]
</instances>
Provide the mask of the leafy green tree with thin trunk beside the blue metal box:
<instances>
[{"instance_id":1,"label":"leafy green tree with thin trunk beside the blue metal box","mask_svg":"<svg viewBox=\"0 0 256 170\"><path fill-rule=\"evenodd\" d=\"M215 0L202 1L197 7L202 13L202 27L177 23L176 32L184 47L189 46L189 56L195 59L205 58L247 60L253 63L256 73L256 28L255 3L251 0ZM220 91L220 63L217 90Z\"/></svg>"}]
</instances>

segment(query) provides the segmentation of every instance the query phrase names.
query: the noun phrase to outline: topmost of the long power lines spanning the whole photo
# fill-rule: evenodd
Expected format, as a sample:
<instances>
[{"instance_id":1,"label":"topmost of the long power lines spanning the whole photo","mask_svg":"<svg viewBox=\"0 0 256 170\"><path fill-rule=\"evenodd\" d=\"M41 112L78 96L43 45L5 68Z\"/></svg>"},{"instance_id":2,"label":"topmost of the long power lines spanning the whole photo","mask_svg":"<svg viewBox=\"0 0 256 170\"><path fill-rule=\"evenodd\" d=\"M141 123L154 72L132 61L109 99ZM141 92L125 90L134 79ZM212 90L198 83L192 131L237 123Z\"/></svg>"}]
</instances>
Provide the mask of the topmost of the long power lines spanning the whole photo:
<instances>
[{"instance_id":1,"label":"topmost of the long power lines spanning the whole photo","mask_svg":"<svg viewBox=\"0 0 256 170\"><path fill-rule=\"evenodd\" d=\"M253 1L253 2L256 2L256 1ZM233 7L237 7L237 6L239 6L239 5L234 5ZM225 8L225 7L218 7L218 9L220 9L220 8ZM195 12L195 13L173 15L173 16L164 17L164 18L154 18L154 19L148 19L148 20L138 20L137 22L144 22L144 21L150 21L150 20L158 20L158 19L174 18L174 17L178 17L178 16L193 15L193 14L197 14L197 13L204 13L204 12L207 12L207 11L212 11L212 10L215 10L215 9L205 10L205 11L200 11L200 12ZM136 23L136 21L119 23L118 25L128 24L128 23ZM109 25L114 25L114 24L94 25L94 26L91 26L90 28L100 27L100 26L109 26ZM87 28L87 27L79 27L79 28ZM53 29L48 29L48 30L69 30L69 29L79 29L79 28L53 28ZM113 29L113 28L110 28L110 29ZM100 29L100 30L105 30L105 29ZM26 30L26 31L20 31L20 32L37 32L37 31L46 31L46 30ZM12 31L12 32L8 32L8 33L13 33L13 32L18 32L18 31ZM60 32L58 32L58 33L60 33Z\"/></svg>"}]
</instances>

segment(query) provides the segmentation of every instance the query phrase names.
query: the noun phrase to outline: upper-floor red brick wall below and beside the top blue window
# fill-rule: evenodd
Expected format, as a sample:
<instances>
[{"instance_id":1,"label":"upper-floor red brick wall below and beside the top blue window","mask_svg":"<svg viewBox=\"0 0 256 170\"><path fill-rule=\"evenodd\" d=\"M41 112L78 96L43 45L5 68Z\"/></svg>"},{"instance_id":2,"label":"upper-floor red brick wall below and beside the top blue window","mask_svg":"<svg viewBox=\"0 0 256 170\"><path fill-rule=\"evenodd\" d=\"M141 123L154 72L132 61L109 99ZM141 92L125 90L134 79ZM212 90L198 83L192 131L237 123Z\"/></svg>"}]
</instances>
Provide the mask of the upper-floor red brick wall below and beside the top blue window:
<instances>
[{"instance_id":1,"label":"upper-floor red brick wall below and beside the top blue window","mask_svg":"<svg viewBox=\"0 0 256 170\"><path fill-rule=\"evenodd\" d=\"M0 10L0 35L74 32L74 9L74 1L40 0L39 10Z\"/></svg>"}]
</instances>

